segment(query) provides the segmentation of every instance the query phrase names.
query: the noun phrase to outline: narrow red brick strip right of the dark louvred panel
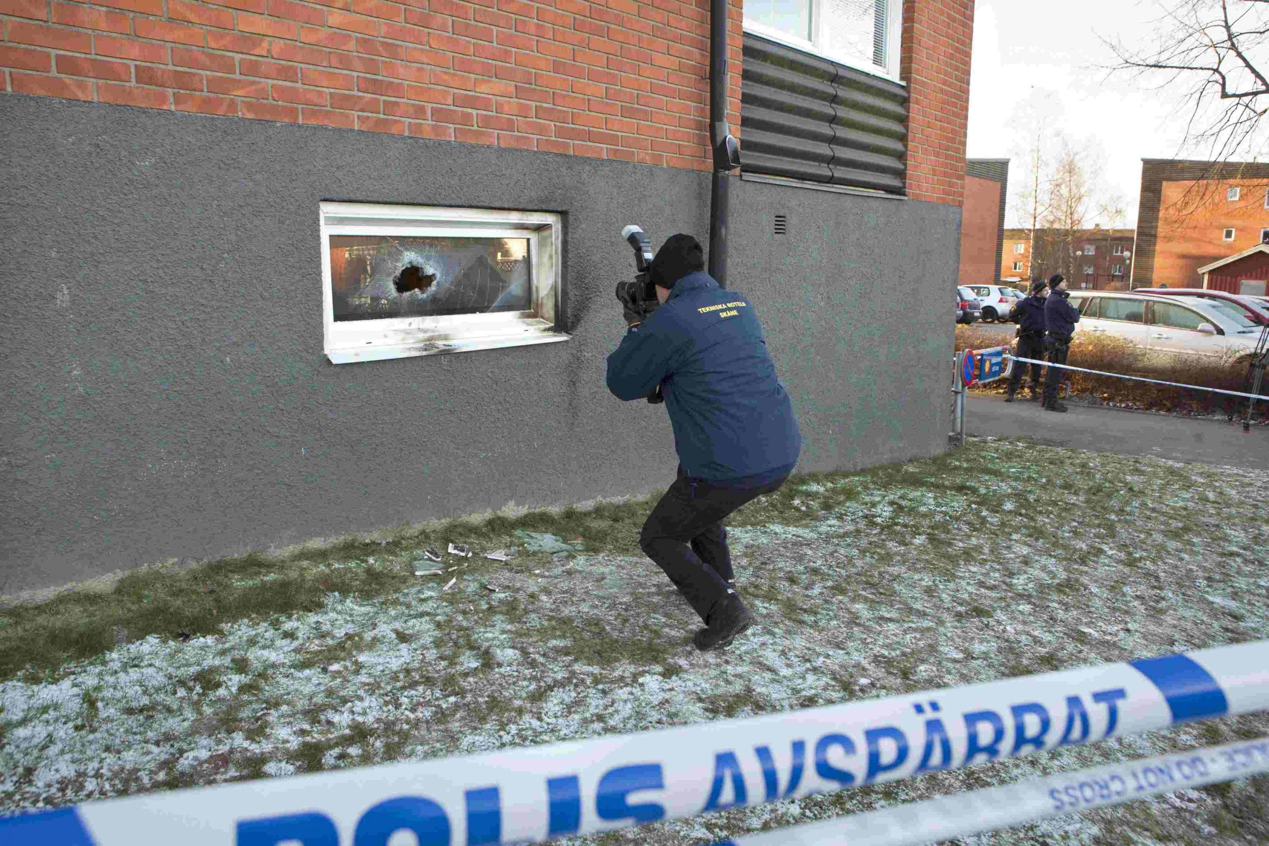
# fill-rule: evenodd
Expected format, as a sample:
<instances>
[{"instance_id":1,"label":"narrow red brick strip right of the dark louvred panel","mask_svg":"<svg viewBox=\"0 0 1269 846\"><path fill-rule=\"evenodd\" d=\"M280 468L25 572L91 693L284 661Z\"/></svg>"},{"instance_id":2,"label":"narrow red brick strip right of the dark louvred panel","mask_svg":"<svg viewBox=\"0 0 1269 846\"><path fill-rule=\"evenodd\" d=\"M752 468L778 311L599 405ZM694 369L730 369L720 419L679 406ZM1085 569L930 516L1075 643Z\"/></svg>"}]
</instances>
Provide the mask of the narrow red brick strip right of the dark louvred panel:
<instances>
[{"instance_id":1,"label":"narrow red brick strip right of the dark louvred panel","mask_svg":"<svg viewBox=\"0 0 1269 846\"><path fill-rule=\"evenodd\" d=\"M904 0L907 195L961 205L973 0Z\"/></svg>"}]
</instances>

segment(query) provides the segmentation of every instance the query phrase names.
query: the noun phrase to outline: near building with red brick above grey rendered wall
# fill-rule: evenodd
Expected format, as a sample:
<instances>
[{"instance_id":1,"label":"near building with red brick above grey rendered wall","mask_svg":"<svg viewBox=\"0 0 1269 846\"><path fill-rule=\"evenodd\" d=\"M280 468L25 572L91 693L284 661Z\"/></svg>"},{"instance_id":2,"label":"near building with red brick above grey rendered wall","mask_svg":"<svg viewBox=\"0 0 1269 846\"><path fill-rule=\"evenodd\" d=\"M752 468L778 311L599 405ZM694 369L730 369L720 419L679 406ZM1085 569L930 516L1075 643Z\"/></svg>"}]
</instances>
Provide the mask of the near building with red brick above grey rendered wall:
<instances>
[{"instance_id":1,"label":"near building with red brick above grey rendered wall","mask_svg":"<svg viewBox=\"0 0 1269 846\"><path fill-rule=\"evenodd\" d=\"M801 469L944 449L973 1L716 5L711 118L706 0L0 0L0 581L664 486L603 359L712 132Z\"/></svg>"}]
</instances>

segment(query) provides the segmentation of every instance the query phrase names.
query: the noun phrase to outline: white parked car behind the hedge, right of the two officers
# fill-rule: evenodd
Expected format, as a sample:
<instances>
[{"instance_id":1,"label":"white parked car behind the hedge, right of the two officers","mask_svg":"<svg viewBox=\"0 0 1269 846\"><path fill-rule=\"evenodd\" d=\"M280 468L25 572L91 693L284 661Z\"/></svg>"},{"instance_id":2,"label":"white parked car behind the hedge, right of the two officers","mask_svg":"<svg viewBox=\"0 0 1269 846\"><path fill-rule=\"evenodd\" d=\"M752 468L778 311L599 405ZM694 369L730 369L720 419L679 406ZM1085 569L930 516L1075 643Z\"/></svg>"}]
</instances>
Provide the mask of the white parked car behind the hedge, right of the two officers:
<instances>
[{"instance_id":1,"label":"white parked car behind the hedge, right of the two officers","mask_svg":"<svg viewBox=\"0 0 1269 846\"><path fill-rule=\"evenodd\" d=\"M1203 297L1110 290L1076 290L1076 332L1124 337L1161 355L1237 356L1255 349L1260 335L1251 317Z\"/></svg>"}]
</instances>

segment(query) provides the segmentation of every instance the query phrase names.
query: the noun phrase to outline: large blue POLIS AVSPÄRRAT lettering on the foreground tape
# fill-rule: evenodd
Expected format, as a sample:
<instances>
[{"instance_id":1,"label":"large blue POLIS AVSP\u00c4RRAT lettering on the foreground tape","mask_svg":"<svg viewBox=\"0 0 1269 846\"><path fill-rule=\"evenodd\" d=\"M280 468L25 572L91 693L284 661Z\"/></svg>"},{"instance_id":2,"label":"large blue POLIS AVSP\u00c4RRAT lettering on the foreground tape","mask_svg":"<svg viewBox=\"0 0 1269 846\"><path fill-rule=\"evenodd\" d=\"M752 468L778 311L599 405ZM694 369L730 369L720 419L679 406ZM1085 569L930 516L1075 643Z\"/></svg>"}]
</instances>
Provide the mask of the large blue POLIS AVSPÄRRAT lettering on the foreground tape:
<instances>
[{"instance_id":1,"label":"large blue POLIS AVSP\u00c4RRAT lettering on the foreground tape","mask_svg":"<svg viewBox=\"0 0 1269 846\"><path fill-rule=\"evenodd\" d=\"M959 715L964 746L954 750L952 733L939 704L912 705L925 715L917 734L898 726L878 726L854 733L849 729L827 732L810 742L791 743L792 764L780 772L769 745L753 750L721 750L713 756L713 778L700 813L749 804L745 765L756 765L765 788L763 800L774 802L796 795L810 767L821 783L834 788L897 778L898 771L916 761L910 775L950 770L970 764L994 761L1029 751L1105 739L1118 726L1119 703L1127 698L1123 687L1093 691L1088 701L1066 696L1065 713L1051 714L1037 701L1022 701L1004 710L983 708ZM1104 717L1104 728L1093 731L1095 717ZM1101 720L1098 720L1101 724ZM959 734L959 732L957 732ZM1096 734L1096 736L1094 736ZM917 752L919 750L919 752ZM810 760L808 758L810 753ZM581 830L584 797L577 774L558 774L543 779L548 836L566 837ZM657 791L666 789L664 767L655 761L627 764L607 770L589 805L596 819L610 824L650 823L662 819L665 808ZM801 795L819 793L817 788ZM503 842L503 807L497 785L483 785L463 793L467 846L492 846ZM419 846L450 846L452 822L445 808L424 795L385 799L367 808L353 833L353 846L387 846L398 831L409 831ZM275 846L301 841L305 846L339 846L335 822L320 810L241 819L236 826L237 846Z\"/></svg>"}]
</instances>

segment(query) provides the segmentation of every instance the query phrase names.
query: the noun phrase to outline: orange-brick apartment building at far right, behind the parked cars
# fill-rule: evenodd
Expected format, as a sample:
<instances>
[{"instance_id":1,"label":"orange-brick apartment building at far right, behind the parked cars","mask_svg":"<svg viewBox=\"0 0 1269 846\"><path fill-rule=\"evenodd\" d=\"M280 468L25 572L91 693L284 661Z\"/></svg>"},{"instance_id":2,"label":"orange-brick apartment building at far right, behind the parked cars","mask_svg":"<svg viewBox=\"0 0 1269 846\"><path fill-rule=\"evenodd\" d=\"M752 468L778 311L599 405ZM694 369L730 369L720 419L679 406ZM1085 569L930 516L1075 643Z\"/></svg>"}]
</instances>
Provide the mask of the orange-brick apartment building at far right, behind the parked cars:
<instances>
[{"instance_id":1,"label":"orange-brick apartment building at far right, behind the parked cars","mask_svg":"<svg viewBox=\"0 0 1269 846\"><path fill-rule=\"evenodd\" d=\"M1133 288L1200 288L1199 268L1265 240L1269 164L1142 160Z\"/></svg>"}]
</instances>

